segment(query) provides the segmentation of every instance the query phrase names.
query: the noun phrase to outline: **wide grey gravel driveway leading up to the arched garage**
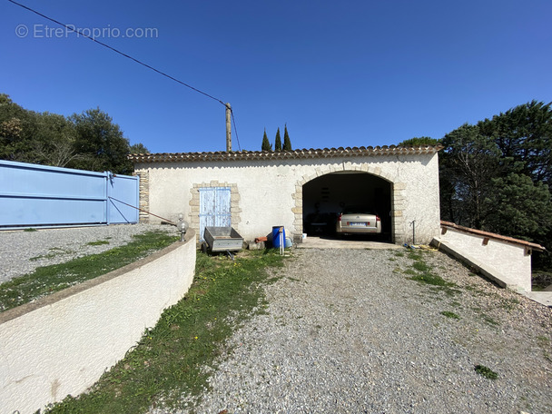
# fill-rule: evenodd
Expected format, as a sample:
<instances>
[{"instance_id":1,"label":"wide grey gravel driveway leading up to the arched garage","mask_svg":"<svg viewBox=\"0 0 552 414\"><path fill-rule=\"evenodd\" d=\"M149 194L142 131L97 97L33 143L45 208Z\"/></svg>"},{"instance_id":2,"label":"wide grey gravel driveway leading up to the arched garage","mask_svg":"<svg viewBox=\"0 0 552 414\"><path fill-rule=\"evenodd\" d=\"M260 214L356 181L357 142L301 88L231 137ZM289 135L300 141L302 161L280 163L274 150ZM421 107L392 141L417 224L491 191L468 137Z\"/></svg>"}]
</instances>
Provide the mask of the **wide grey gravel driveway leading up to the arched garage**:
<instances>
[{"instance_id":1,"label":"wide grey gravel driveway leading up to the arched garage","mask_svg":"<svg viewBox=\"0 0 552 414\"><path fill-rule=\"evenodd\" d=\"M439 252L425 261L456 292L410 281L405 252L294 251L197 411L552 412L552 311Z\"/></svg>"}]
</instances>

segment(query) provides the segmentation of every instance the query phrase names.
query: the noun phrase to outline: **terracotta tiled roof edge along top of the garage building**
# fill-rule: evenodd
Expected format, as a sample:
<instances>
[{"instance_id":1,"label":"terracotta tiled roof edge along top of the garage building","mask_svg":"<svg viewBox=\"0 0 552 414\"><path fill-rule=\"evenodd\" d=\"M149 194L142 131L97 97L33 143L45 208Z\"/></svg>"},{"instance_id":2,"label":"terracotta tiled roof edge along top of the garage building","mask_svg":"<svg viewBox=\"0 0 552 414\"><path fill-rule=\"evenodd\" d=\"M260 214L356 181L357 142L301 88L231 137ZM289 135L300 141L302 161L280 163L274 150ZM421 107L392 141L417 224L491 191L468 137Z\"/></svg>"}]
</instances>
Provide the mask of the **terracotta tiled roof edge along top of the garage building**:
<instances>
[{"instance_id":1,"label":"terracotta tiled roof edge along top of the garage building","mask_svg":"<svg viewBox=\"0 0 552 414\"><path fill-rule=\"evenodd\" d=\"M335 158L335 157L360 157L381 155L413 155L424 153L437 153L443 147L440 145L425 145L417 147L402 147L396 145L383 145L376 147L347 147L303 149L295 151L237 151L232 153L133 153L129 159L134 163L180 163L202 161L243 161L243 160L287 160L301 158Z\"/></svg>"}]
</instances>

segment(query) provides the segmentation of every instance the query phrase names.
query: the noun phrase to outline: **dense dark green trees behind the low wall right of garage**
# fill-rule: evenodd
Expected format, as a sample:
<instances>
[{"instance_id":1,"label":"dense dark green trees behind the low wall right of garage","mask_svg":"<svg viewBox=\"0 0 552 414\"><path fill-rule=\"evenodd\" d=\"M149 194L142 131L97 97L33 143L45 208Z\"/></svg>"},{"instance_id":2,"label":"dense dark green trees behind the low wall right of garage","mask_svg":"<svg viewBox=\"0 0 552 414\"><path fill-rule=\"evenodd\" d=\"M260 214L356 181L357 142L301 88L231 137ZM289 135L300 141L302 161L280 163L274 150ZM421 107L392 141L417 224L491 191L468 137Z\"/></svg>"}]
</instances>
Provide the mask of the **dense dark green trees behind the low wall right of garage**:
<instances>
[{"instance_id":1,"label":"dense dark green trees behind the low wall right of garage","mask_svg":"<svg viewBox=\"0 0 552 414\"><path fill-rule=\"evenodd\" d=\"M552 250L552 110L531 101L442 139L441 217ZM534 264L552 266L538 255Z\"/></svg>"}]
</instances>

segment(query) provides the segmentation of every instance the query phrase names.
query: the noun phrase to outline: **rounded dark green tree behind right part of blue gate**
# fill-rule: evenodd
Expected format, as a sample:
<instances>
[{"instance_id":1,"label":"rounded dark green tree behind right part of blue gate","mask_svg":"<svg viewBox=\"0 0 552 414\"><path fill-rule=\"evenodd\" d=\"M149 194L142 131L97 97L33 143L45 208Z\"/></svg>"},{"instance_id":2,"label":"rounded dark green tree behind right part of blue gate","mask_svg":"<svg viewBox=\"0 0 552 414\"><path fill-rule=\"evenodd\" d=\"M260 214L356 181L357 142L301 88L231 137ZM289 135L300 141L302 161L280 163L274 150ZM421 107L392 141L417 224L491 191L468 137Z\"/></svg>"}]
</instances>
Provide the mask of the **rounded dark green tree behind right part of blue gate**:
<instances>
[{"instance_id":1,"label":"rounded dark green tree behind right part of blue gate","mask_svg":"<svg viewBox=\"0 0 552 414\"><path fill-rule=\"evenodd\" d=\"M81 154L71 166L120 174L133 172L133 164L127 158L129 141L111 116L96 108L74 113L70 120L76 131L75 148Z\"/></svg>"}]
</instances>

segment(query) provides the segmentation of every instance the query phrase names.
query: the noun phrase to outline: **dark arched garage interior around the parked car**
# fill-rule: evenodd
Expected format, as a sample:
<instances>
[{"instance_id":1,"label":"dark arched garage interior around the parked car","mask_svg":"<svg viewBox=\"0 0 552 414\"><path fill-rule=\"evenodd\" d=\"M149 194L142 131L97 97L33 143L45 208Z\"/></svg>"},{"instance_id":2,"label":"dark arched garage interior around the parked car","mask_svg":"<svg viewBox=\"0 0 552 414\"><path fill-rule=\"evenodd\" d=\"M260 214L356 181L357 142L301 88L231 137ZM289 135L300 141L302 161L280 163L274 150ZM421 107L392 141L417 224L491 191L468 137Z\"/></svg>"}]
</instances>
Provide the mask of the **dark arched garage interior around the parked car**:
<instances>
[{"instance_id":1,"label":"dark arched garage interior around the parked car","mask_svg":"<svg viewBox=\"0 0 552 414\"><path fill-rule=\"evenodd\" d=\"M335 236L340 212L359 206L378 214L381 234L377 237L392 242L390 182L370 173L328 173L305 183L302 195L303 232L308 236Z\"/></svg>"}]
</instances>

